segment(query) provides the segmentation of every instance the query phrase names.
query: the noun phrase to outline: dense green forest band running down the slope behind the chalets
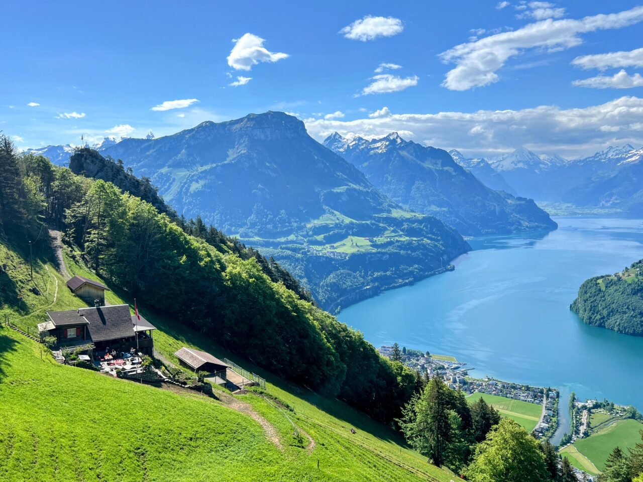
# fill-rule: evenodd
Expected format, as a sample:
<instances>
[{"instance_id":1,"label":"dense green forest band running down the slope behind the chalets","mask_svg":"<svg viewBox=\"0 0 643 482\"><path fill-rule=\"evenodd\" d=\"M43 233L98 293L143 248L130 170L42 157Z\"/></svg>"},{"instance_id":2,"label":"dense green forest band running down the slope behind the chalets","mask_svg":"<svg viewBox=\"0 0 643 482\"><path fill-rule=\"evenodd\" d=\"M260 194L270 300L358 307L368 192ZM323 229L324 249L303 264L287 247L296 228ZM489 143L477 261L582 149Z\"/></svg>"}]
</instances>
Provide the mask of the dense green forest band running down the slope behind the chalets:
<instances>
[{"instance_id":1,"label":"dense green forest band running down the slope behind the chalets","mask_svg":"<svg viewBox=\"0 0 643 482\"><path fill-rule=\"evenodd\" d=\"M173 219L112 183L19 154L1 136L0 236L35 240L45 224L60 226L96 272L141 304L282 377L386 422L413 394L412 371L271 279L275 263L198 219Z\"/></svg>"}]
</instances>

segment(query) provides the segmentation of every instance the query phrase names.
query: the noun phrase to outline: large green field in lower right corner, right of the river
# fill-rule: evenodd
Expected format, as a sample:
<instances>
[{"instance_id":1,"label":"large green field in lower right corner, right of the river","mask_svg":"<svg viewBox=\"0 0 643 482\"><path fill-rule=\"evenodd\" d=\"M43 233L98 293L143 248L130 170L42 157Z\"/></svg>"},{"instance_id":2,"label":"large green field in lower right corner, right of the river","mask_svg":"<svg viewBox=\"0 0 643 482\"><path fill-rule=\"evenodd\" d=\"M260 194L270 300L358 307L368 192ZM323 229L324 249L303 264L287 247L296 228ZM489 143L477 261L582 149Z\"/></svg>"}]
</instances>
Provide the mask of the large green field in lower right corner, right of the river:
<instances>
[{"instance_id":1,"label":"large green field in lower right corner, right of the river","mask_svg":"<svg viewBox=\"0 0 643 482\"><path fill-rule=\"evenodd\" d=\"M627 449L634 447L635 443L641 441L641 430L643 430L643 424L636 420L631 418L617 420L617 422L608 425L588 438L576 440L572 446L588 460L591 460L597 469L604 470L605 460L607 460L614 447L618 445L620 449L627 453ZM582 469L582 467L579 467L579 469Z\"/></svg>"}]
</instances>

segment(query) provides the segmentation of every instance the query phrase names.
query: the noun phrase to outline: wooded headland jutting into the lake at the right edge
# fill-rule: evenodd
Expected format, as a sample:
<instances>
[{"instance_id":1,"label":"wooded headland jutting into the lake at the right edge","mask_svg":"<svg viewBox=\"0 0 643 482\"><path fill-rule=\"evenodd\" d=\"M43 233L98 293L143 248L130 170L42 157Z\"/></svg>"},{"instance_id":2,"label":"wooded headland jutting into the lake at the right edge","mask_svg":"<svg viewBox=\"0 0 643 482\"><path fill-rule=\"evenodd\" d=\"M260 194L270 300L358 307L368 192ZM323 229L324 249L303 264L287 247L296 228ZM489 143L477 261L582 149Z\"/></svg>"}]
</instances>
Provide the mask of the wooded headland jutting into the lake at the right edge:
<instances>
[{"instance_id":1,"label":"wooded headland jutting into the lake at the right edge","mask_svg":"<svg viewBox=\"0 0 643 482\"><path fill-rule=\"evenodd\" d=\"M643 260L584 281L570 308L588 325L643 336Z\"/></svg>"}]
</instances>

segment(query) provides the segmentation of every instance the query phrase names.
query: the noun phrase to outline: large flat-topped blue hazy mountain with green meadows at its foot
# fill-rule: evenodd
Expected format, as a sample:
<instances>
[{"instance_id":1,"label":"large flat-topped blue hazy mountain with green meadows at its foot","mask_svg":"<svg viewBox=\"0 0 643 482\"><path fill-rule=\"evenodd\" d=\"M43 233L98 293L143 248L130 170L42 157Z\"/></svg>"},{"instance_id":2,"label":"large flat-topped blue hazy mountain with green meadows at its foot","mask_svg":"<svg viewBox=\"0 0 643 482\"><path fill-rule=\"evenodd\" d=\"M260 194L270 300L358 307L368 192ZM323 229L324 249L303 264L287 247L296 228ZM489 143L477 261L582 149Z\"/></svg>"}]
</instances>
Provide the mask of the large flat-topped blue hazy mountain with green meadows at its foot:
<instances>
[{"instance_id":1,"label":"large flat-topped blue hazy mountain with green meadows at its foot","mask_svg":"<svg viewBox=\"0 0 643 482\"><path fill-rule=\"evenodd\" d=\"M325 308L427 276L469 249L453 228L379 192L283 112L123 139L102 154L149 177L179 214L201 215L274 256Z\"/></svg>"}]
</instances>

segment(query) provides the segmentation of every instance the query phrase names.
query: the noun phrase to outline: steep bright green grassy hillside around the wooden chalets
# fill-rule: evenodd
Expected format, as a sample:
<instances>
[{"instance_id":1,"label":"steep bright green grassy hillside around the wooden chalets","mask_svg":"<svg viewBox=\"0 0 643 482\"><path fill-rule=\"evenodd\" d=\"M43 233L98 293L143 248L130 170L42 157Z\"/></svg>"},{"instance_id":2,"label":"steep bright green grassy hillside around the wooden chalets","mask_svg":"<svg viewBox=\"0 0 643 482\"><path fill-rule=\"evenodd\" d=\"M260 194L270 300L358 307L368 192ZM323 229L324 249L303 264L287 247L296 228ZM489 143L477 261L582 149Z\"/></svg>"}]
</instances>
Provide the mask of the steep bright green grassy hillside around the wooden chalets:
<instances>
[{"instance_id":1,"label":"steep bright green grassy hillside around the wooden chalets","mask_svg":"<svg viewBox=\"0 0 643 482\"><path fill-rule=\"evenodd\" d=\"M35 327L46 310L84 305L64 285L46 250L35 256L34 279L43 292L36 296L28 292L28 260L15 247L0 245L0 249L12 266L1 278L1 312L12 321ZM71 274L95 278L70 254L66 253L66 261ZM24 301L17 301L19 294ZM109 292L107 301L123 300ZM404 447L399 434L343 402L260 371L172 319L148 310L143 314L159 328L154 338L163 358L171 360L181 346L233 357L266 376L268 399L261 393L232 397L218 392L221 401L217 401L60 366L48 355L41 359L41 345L1 328L0 411L10 415L0 421L3 480L447 482L453 478ZM284 413L302 431L300 440L293 436ZM350 433L350 428L357 433Z\"/></svg>"}]
</instances>

